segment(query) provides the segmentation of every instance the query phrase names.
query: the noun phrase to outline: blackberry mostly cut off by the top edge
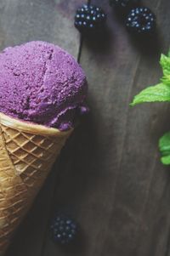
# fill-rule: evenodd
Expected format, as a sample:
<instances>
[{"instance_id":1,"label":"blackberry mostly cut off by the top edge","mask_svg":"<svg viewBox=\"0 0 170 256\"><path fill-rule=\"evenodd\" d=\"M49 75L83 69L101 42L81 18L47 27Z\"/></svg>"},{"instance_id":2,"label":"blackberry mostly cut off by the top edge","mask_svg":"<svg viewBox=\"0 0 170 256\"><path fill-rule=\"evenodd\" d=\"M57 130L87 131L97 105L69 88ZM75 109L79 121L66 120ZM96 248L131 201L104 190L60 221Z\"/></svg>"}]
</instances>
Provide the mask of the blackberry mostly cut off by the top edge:
<instances>
[{"instance_id":1,"label":"blackberry mostly cut off by the top edge","mask_svg":"<svg viewBox=\"0 0 170 256\"><path fill-rule=\"evenodd\" d=\"M140 0L110 0L110 4L123 12L127 9L139 6Z\"/></svg>"}]
</instances>

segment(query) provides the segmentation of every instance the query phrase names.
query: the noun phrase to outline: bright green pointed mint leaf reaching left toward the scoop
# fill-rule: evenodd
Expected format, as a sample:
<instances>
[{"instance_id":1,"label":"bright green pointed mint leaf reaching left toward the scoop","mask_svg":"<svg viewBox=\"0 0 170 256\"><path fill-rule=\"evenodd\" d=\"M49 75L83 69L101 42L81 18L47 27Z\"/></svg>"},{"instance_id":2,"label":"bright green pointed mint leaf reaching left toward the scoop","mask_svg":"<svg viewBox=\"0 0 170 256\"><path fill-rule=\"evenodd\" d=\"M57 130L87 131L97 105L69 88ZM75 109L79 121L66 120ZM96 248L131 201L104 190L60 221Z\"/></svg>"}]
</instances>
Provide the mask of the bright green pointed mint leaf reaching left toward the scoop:
<instances>
[{"instance_id":1,"label":"bright green pointed mint leaf reaching left toward the scoop","mask_svg":"<svg viewBox=\"0 0 170 256\"><path fill-rule=\"evenodd\" d=\"M145 88L141 93L136 95L131 106L138 105L144 102L170 101L170 86L164 83L159 83L155 86Z\"/></svg>"}]
</instances>

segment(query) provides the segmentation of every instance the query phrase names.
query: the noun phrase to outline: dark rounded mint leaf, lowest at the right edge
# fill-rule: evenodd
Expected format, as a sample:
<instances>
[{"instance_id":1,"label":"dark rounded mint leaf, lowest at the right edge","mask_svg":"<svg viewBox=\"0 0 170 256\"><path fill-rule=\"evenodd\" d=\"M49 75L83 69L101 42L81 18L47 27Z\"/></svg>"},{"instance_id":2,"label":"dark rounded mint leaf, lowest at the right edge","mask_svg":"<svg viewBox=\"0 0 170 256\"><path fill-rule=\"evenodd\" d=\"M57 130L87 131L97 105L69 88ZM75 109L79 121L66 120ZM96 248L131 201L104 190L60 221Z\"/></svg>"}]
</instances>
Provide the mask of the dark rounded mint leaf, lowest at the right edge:
<instances>
[{"instance_id":1,"label":"dark rounded mint leaf, lowest at the right edge","mask_svg":"<svg viewBox=\"0 0 170 256\"><path fill-rule=\"evenodd\" d=\"M161 151L161 162L165 165L170 164L170 132L164 134L159 140L159 149Z\"/></svg>"}]
</instances>

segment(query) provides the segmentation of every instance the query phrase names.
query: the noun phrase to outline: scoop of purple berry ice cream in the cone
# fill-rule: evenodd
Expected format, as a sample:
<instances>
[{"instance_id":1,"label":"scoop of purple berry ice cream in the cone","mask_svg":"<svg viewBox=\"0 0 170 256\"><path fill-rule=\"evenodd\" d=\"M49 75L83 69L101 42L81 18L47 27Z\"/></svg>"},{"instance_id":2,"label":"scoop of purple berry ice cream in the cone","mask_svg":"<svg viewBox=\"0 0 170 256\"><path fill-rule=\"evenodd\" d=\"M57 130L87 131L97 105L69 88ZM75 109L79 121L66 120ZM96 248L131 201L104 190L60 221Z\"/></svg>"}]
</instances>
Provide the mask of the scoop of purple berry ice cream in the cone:
<instances>
[{"instance_id":1,"label":"scoop of purple berry ice cream in the cone","mask_svg":"<svg viewBox=\"0 0 170 256\"><path fill-rule=\"evenodd\" d=\"M86 111L88 85L77 61L51 43L31 42L0 54L0 111L65 130Z\"/></svg>"}]
</instances>

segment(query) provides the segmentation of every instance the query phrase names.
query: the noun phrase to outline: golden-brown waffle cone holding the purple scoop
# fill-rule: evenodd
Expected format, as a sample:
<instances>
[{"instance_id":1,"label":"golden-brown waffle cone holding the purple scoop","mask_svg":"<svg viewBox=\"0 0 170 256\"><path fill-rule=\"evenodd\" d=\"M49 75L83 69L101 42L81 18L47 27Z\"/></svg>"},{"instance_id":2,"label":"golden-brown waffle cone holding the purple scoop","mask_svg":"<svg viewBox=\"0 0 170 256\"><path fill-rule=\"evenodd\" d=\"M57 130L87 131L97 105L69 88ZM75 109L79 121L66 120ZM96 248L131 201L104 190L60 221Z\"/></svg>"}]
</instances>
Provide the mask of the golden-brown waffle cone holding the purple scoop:
<instances>
[{"instance_id":1,"label":"golden-brown waffle cone holding the purple scoop","mask_svg":"<svg viewBox=\"0 0 170 256\"><path fill-rule=\"evenodd\" d=\"M1 256L70 134L0 113Z\"/></svg>"}]
</instances>

